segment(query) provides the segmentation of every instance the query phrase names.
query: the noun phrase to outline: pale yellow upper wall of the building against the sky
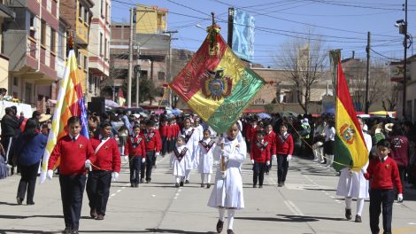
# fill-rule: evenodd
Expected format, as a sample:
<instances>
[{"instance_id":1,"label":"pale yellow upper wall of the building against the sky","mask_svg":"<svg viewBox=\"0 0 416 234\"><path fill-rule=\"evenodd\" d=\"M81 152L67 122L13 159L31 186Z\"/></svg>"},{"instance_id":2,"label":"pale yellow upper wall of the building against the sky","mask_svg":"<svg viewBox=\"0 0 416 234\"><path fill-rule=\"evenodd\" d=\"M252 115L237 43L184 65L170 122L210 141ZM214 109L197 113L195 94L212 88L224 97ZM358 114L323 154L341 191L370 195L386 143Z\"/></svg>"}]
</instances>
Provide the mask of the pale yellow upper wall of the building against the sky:
<instances>
[{"instance_id":1,"label":"pale yellow upper wall of the building against the sky","mask_svg":"<svg viewBox=\"0 0 416 234\"><path fill-rule=\"evenodd\" d=\"M166 31L166 12L158 11L156 6L138 5L136 9L136 33L160 34Z\"/></svg>"}]
</instances>

